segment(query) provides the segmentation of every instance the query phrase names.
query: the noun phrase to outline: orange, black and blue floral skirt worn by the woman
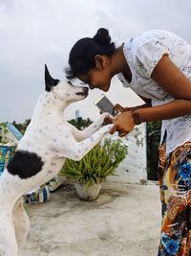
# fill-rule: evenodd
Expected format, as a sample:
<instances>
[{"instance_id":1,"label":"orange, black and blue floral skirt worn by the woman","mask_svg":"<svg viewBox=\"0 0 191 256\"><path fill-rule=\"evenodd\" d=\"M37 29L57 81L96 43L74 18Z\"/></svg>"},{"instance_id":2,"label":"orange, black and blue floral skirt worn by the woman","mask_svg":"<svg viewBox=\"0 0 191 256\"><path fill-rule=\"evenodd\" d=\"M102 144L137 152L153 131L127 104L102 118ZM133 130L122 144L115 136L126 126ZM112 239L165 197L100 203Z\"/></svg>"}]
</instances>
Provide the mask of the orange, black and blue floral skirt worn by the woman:
<instances>
[{"instance_id":1,"label":"orange, black and blue floral skirt worn by the woman","mask_svg":"<svg viewBox=\"0 0 191 256\"><path fill-rule=\"evenodd\" d=\"M159 147L161 235L158 256L191 255L191 142L168 156Z\"/></svg>"}]
</instances>

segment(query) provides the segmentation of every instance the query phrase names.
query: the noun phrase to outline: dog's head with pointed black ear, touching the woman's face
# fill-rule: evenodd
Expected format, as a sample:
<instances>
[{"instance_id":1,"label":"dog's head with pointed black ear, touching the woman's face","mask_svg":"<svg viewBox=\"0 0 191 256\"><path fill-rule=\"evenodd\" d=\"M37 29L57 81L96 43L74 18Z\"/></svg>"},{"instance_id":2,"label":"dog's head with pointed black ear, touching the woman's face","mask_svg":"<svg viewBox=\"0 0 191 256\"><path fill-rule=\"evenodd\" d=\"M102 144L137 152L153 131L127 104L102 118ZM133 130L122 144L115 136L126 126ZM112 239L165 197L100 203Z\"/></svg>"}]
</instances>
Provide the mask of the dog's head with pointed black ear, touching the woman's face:
<instances>
[{"instance_id":1,"label":"dog's head with pointed black ear, touching the woman's face","mask_svg":"<svg viewBox=\"0 0 191 256\"><path fill-rule=\"evenodd\" d=\"M59 81L52 78L45 65L45 89L66 103L74 103L88 96L88 88L75 86L71 81Z\"/></svg>"}]
</instances>

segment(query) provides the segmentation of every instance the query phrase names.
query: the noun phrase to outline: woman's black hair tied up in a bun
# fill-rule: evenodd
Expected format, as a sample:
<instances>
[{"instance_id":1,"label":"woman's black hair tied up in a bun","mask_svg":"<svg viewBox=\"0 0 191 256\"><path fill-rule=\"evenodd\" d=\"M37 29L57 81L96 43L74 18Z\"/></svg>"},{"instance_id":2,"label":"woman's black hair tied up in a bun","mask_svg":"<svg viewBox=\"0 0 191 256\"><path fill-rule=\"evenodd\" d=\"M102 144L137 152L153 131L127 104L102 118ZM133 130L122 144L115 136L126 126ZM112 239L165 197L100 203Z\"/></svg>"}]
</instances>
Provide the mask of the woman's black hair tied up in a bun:
<instances>
[{"instance_id":1,"label":"woman's black hair tied up in a bun","mask_svg":"<svg viewBox=\"0 0 191 256\"><path fill-rule=\"evenodd\" d=\"M116 50L108 30L99 29L96 35L79 39L69 54L69 68L65 69L68 80L74 80L77 75L86 75L96 67L96 55L112 56Z\"/></svg>"}]
</instances>

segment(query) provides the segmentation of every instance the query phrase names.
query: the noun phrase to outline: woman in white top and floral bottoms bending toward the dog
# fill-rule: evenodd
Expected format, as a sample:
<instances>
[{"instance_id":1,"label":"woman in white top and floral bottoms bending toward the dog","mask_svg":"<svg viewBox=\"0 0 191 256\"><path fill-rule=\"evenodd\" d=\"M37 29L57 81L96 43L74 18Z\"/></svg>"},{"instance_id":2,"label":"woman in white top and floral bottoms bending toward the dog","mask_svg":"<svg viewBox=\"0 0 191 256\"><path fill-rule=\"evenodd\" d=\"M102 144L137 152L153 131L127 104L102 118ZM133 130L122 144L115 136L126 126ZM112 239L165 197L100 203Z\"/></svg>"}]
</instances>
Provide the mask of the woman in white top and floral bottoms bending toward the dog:
<instances>
[{"instance_id":1,"label":"woman in white top and floral bottoms bending toward the dog","mask_svg":"<svg viewBox=\"0 0 191 256\"><path fill-rule=\"evenodd\" d=\"M110 133L128 134L142 122L162 120L159 185L162 223L159 255L191 255L191 45L160 30L141 33L120 47L106 29L78 40L67 78L108 91L117 75L145 105L125 108Z\"/></svg>"}]
</instances>

